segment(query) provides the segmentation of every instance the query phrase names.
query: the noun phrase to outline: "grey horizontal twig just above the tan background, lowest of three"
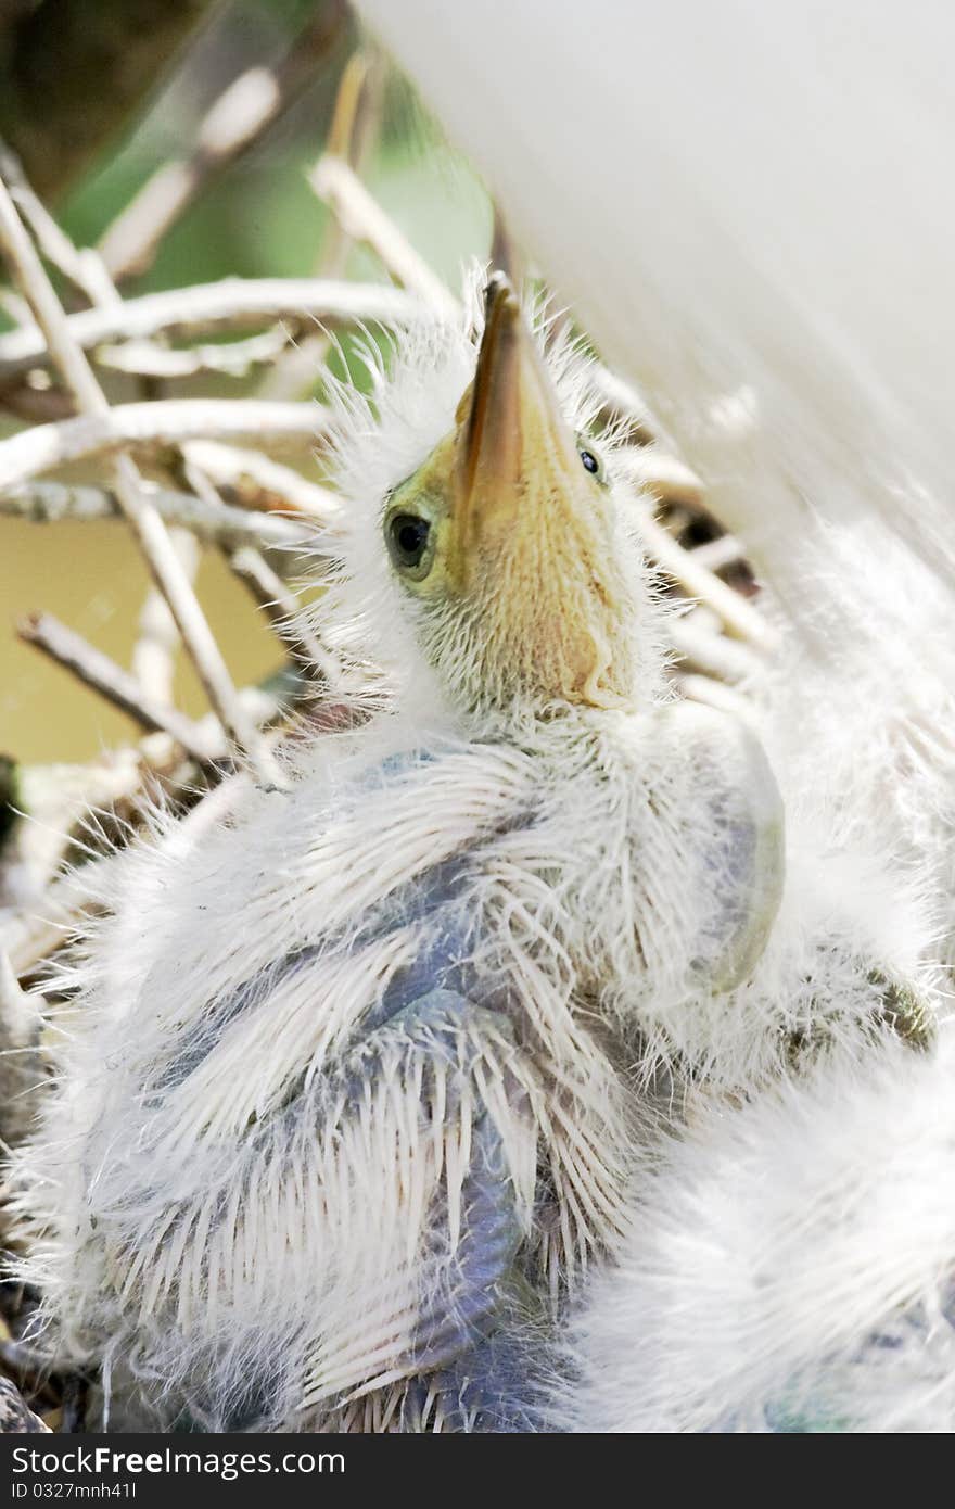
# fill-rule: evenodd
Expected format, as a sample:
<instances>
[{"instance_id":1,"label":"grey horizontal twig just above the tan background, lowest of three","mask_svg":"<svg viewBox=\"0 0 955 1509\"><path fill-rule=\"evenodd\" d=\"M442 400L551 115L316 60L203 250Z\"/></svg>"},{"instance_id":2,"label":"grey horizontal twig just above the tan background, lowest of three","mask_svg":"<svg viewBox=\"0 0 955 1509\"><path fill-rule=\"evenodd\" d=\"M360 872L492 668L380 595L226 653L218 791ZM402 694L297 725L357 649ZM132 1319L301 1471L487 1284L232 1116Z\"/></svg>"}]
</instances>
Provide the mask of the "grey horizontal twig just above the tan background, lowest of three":
<instances>
[{"instance_id":1,"label":"grey horizontal twig just above the tan background, lowest of three","mask_svg":"<svg viewBox=\"0 0 955 1509\"><path fill-rule=\"evenodd\" d=\"M297 477L297 472L291 475ZM305 487L311 486L305 478L300 481ZM332 495L329 493L329 496ZM220 545L228 551L238 549L241 545L294 549L314 539L309 528L276 513L252 513L228 502L213 507L186 492L149 489L149 501L166 524L180 524L198 539L210 545ZM59 524L60 519L122 519L122 510L106 487L72 487L60 481L35 481L2 492L0 516L29 519L35 524Z\"/></svg>"}]
</instances>

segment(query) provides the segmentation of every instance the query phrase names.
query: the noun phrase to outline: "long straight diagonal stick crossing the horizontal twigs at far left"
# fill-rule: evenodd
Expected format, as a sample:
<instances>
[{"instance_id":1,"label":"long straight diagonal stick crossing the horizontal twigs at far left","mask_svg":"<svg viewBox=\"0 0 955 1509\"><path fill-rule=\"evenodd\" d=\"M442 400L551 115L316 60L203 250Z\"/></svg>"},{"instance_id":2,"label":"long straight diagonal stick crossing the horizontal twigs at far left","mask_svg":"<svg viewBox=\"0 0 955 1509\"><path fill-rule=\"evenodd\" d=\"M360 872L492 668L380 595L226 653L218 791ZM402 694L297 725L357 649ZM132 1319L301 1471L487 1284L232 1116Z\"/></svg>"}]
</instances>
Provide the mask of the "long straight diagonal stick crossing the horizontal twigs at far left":
<instances>
[{"instance_id":1,"label":"long straight diagonal stick crossing the horizontal twigs at far left","mask_svg":"<svg viewBox=\"0 0 955 1509\"><path fill-rule=\"evenodd\" d=\"M45 269L27 235L6 184L0 180L0 246L26 296L33 315L47 338L50 355L72 394L77 409L92 420L110 418L110 407L83 352L69 335L66 317L56 297ZM72 421L72 423L83 423ZM11 442L8 442L11 444ZM223 727L244 750L259 771L275 777L275 761L266 750L259 732L246 718L232 679L205 622L205 616L166 533L160 515L142 489L142 478L128 456L113 463L113 486L139 546L177 622L183 643L205 685L207 694Z\"/></svg>"}]
</instances>

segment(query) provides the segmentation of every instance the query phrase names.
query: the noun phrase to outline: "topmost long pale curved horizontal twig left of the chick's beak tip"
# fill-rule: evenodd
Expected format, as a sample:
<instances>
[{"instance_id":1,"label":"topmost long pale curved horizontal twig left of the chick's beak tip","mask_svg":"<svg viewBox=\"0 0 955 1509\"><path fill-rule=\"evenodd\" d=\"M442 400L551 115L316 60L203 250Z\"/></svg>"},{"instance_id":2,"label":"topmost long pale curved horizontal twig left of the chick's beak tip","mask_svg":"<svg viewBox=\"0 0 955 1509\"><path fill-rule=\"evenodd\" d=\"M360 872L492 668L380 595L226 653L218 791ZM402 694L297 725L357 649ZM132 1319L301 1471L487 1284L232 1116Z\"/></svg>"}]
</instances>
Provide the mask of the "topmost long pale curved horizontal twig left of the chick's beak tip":
<instances>
[{"instance_id":1,"label":"topmost long pale curved horizontal twig left of the chick's beak tip","mask_svg":"<svg viewBox=\"0 0 955 1509\"><path fill-rule=\"evenodd\" d=\"M422 314L421 300L403 288L379 284L341 282L332 278L223 278L190 288L169 288L140 299L78 314L62 314L74 346L92 350L124 340L151 335L189 335L211 326L241 329L288 320L364 320L394 324ZM0 383L20 377L50 361L42 330L21 329L0 335Z\"/></svg>"}]
</instances>

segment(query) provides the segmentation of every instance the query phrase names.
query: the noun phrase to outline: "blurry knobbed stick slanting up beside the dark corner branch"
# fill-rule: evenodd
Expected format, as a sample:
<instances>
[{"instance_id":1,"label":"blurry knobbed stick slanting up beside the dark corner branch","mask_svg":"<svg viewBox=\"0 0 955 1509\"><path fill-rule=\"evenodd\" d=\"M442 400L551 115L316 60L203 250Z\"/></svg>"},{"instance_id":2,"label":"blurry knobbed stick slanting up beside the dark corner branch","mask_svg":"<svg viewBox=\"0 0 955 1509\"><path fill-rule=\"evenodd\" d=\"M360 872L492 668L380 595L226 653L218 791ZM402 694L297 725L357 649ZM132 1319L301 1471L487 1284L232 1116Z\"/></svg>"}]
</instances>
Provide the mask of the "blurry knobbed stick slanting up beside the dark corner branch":
<instances>
[{"instance_id":1,"label":"blurry knobbed stick slanting up beside the dark corner branch","mask_svg":"<svg viewBox=\"0 0 955 1509\"><path fill-rule=\"evenodd\" d=\"M140 189L100 241L100 255L121 282L143 273L166 232L210 178L235 161L314 77L344 20L344 5L323 8L273 68L249 68L219 95L199 125L193 152L167 163Z\"/></svg>"}]
</instances>

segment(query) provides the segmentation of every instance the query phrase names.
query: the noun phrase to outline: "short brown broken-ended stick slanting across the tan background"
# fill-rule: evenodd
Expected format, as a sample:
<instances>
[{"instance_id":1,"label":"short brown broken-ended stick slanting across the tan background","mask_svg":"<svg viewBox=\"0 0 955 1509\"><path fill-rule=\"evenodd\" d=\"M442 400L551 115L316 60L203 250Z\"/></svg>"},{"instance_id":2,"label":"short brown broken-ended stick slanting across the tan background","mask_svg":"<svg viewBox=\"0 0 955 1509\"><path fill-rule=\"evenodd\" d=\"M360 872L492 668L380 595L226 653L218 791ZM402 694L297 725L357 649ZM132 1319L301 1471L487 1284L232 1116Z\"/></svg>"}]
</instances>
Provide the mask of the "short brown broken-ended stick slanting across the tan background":
<instances>
[{"instance_id":1,"label":"short brown broken-ended stick slanting across the tan background","mask_svg":"<svg viewBox=\"0 0 955 1509\"><path fill-rule=\"evenodd\" d=\"M24 644L42 650L57 665L72 672L84 687L98 691L115 708L151 733L169 733L186 753L201 765L214 761L216 748L204 730L149 693L122 665L110 659L80 634L66 628L51 613L35 613L17 626Z\"/></svg>"}]
</instances>

